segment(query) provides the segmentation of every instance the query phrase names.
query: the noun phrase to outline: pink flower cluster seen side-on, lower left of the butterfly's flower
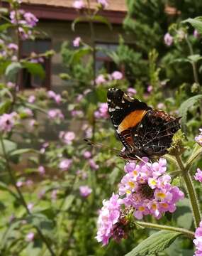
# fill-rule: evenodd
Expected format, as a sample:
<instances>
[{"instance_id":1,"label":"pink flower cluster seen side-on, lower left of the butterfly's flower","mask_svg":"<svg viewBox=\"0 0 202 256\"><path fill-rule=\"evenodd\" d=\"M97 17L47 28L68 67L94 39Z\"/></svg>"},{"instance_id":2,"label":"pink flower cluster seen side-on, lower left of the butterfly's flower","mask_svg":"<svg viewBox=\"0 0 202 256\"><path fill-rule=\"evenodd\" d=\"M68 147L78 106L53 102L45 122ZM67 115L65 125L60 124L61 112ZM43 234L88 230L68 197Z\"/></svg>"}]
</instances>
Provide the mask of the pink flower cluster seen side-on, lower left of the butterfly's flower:
<instances>
[{"instance_id":1,"label":"pink flower cluster seen side-on, lower left of the butterfly's flower","mask_svg":"<svg viewBox=\"0 0 202 256\"><path fill-rule=\"evenodd\" d=\"M110 238L120 240L125 235L123 229L118 226L121 216L121 204L122 200L115 194L113 194L108 201L103 201L103 207L99 212L97 222L98 231L96 235L96 240L102 242L103 245L107 245ZM118 233L116 233L115 230L118 231Z\"/></svg>"}]
</instances>

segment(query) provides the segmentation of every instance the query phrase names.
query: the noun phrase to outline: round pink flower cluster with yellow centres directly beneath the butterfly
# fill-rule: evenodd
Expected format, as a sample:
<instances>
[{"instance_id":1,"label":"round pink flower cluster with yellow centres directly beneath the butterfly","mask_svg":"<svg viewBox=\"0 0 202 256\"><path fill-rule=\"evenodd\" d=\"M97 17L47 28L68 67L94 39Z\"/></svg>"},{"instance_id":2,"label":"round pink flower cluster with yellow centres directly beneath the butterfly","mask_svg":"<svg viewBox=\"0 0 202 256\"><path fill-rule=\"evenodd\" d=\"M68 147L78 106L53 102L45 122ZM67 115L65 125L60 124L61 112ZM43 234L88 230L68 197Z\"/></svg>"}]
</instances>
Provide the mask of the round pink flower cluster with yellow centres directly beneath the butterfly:
<instances>
[{"instance_id":1,"label":"round pink flower cluster with yellow centres directly beneath the butterfly","mask_svg":"<svg viewBox=\"0 0 202 256\"><path fill-rule=\"evenodd\" d=\"M135 218L153 215L159 219L162 214L176 210L176 202L184 198L184 193L170 184L171 177L164 174L167 170L166 159L153 164L144 158L140 164L125 166L128 172L120 181L119 194L124 196L126 207L134 208Z\"/></svg>"}]
</instances>

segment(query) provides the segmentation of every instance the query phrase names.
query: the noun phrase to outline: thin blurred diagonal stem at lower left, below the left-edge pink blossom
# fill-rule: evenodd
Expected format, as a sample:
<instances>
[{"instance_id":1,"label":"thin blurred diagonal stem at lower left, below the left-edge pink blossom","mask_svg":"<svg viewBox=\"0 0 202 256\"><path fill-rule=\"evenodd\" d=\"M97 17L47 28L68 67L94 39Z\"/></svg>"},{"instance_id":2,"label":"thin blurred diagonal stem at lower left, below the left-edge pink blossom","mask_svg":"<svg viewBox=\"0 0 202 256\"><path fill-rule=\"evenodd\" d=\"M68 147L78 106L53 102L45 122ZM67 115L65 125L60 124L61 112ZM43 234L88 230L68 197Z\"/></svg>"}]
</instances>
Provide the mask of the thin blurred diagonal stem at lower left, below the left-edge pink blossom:
<instances>
[{"instance_id":1,"label":"thin blurred diagonal stem at lower left, below the left-edge pink blossom","mask_svg":"<svg viewBox=\"0 0 202 256\"><path fill-rule=\"evenodd\" d=\"M16 177L14 176L13 171L11 170L11 166L9 164L9 158L6 154L6 149L5 149L2 135L0 135L0 141L1 141L1 148L2 148L2 151L4 154L4 159L6 160L6 169L9 172L9 176L11 178L11 183L16 188L16 191L18 193L18 200L20 201L21 205L26 209L26 212L28 213L28 215L31 215L30 210L28 209L26 200L23 197L23 194L21 193L20 188L16 185ZM33 227L37 230L38 235L40 236L41 240L43 240L43 242L45 243L47 250L50 252L50 255L56 256L55 252L53 252L52 247L50 246L49 242L47 242L47 240L46 240L45 236L43 235L43 233L41 232L40 228L38 228L38 226L36 226L36 225L33 225Z\"/></svg>"}]
</instances>

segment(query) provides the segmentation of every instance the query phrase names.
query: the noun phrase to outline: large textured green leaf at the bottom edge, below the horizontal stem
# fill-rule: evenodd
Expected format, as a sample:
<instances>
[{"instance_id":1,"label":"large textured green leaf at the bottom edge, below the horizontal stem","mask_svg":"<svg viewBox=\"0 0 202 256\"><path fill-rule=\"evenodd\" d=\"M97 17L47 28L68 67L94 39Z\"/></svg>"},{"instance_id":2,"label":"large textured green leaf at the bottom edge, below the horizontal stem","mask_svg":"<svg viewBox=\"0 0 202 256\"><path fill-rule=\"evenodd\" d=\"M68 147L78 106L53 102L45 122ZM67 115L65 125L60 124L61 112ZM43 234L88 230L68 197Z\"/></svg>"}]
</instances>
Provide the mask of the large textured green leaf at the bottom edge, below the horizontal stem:
<instances>
[{"instance_id":1,"label":"large textured green leaf at the bottom edge, below the horizontal stem","mask_svg":"<svg viewBox=\"0 0 202 256\"><path fill-rule=\"evenodd\" d=\"M153 256L162 252L179 237L181 233L162 230L140 243L135 249L125 256Z\"/></svg>"}]
</instances>

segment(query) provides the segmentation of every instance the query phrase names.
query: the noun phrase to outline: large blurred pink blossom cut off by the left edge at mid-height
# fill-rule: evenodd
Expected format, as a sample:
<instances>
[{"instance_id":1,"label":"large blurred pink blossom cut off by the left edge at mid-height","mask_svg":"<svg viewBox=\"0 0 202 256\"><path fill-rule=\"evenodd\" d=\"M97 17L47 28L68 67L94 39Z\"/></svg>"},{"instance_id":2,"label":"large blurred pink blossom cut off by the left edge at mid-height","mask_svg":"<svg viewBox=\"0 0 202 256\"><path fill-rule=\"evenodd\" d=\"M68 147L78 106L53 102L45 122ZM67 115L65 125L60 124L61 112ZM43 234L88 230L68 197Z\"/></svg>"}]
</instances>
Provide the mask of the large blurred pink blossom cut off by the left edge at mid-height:
<instances>
[{"instance_id":1,"label":"large blurred pink blossom cut off by the left edge at mid-height","mask_svg":"<svg viewBox=\"0 0 202 256\"><path fill-rule=\"evenodd\" d=\"M2 114L0 116L0 132L11 132L17 118L18 114L16 112L11 112L11 114Z\"/></svg>"}]
</instances>

